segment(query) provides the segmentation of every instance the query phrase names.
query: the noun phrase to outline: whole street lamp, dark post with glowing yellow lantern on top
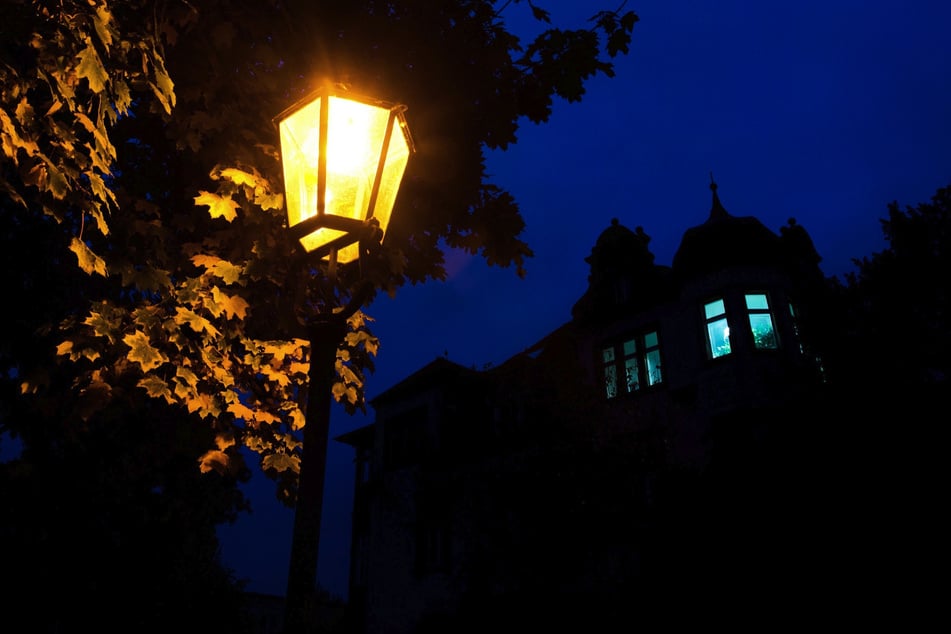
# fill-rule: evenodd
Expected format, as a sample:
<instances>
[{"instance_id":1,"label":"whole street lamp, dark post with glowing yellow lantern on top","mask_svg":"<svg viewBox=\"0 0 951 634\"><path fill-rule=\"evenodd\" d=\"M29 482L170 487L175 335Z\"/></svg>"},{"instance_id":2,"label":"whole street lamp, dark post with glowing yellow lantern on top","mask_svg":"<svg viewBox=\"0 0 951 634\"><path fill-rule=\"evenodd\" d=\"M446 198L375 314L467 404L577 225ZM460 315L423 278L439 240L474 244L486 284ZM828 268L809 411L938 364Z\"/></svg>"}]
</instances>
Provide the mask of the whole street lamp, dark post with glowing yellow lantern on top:
<instances>
[{"instance_id":1,"label":"whole street lamp, dark post with glowing yellow lantern on top","mask_svg":"<svg viewBox=\"0 0 951 634\"><path fill-rule=\"evenodd\" d=\"M382 243L414 147L402 105L324 88L276 117L291 234L327 263L360 264ZM365 259L365 258L364 258ZM371 285L361 280L345 306L323 307L308 323L310 370L284 611L285 634L307 631L314 615L331 390L347 319ZM332 294L332 291L331 291Z\"/></svg>"}]
</instances>

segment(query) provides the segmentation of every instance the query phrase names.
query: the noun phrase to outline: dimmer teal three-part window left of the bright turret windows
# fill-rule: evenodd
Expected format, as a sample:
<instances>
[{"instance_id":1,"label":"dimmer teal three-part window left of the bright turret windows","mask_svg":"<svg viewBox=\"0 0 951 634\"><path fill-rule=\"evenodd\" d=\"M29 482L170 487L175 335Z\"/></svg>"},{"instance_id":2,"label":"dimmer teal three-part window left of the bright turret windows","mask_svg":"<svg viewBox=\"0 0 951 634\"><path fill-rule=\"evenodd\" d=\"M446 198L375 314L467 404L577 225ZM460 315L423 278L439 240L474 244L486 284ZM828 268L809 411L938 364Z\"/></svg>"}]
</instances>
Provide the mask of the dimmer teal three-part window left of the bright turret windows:
<instances>
[{"instance_id":1,"label":"dimmer teal three-part window left of the bright turret windows","mask_svg":"<svg viewBox=\"0 0 951 634\"><path fill-rule=\"evenodd\" d=\"M663 381L657 331L622 339L601 349L604 393L630 394Z\"/></svg>"}]
</instances>

